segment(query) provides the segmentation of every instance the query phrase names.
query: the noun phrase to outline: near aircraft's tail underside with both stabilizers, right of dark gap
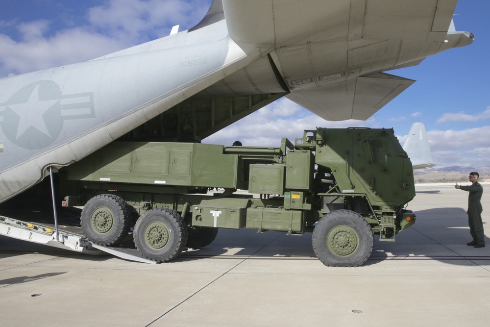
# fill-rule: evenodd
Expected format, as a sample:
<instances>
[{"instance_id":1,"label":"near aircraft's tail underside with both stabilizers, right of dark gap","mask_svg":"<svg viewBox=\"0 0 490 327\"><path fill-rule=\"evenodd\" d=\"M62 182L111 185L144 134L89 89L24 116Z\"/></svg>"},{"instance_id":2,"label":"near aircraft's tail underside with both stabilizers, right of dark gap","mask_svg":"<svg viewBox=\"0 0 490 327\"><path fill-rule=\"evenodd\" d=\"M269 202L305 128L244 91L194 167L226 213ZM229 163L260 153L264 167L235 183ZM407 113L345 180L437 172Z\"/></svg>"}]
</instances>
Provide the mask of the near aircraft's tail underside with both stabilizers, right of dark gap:
<instances>
[{"instance_id":1,"label":"near aircraft's tail underside with both stabilizers, right of dark gap","mask_svg":"<svg viewBox=\"0 0 490 327\"><path fill-rule=\"evenodd\" d=\"M367 120L415 82L379 73L472 42L470 33L448 33L457 0L311 2L223 5L233 39L274 44L286 98L326 120Z\"/></svg>"}]
</instances>

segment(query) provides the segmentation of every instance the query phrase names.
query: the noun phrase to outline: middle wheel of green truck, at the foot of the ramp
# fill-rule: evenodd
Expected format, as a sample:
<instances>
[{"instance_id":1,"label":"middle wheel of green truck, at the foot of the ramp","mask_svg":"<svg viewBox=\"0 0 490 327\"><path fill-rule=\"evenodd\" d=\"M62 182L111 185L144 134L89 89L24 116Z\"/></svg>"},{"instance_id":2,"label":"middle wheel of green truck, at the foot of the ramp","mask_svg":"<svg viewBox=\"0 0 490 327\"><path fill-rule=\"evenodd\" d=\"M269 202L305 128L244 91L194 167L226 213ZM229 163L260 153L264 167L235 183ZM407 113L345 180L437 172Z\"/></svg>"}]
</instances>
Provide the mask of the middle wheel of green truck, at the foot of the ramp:
<instances>
[{"instance_id":1,"label":"middle wheel of green truck, at the foot of the ramp","mask_svg":"<svg viewBox=\"0 0 490 327\"><path fill-rule=\"evenodd\" d=\"M157 262L176 258L187 243L187 227L182 217L168 208L145 212L134 226L134 244L145 257Z\"/></svg>"}]
</instances>

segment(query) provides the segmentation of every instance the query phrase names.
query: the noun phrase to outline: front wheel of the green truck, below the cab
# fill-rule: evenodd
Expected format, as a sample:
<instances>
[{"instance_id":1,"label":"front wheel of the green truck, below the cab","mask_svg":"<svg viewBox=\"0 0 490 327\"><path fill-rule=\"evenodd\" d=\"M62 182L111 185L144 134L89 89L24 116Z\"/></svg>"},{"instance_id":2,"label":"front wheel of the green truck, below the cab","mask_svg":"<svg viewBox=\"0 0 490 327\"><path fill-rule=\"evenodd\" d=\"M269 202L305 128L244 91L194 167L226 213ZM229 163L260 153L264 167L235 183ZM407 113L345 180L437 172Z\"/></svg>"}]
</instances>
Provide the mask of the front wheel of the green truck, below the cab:
<instances>
[{"instance_id":1,"label":"front wheel of the green truck, below the cab","mask_svg":"<svg viewBox=\"0 0 490 327\"><path fill-rule=\"evenodd\" d=\"M374 236L361 215L350 210L335 210L319 220L313 230L312 244L325 266L357 267L371 255Z\"/></svg>"}]
</instances>

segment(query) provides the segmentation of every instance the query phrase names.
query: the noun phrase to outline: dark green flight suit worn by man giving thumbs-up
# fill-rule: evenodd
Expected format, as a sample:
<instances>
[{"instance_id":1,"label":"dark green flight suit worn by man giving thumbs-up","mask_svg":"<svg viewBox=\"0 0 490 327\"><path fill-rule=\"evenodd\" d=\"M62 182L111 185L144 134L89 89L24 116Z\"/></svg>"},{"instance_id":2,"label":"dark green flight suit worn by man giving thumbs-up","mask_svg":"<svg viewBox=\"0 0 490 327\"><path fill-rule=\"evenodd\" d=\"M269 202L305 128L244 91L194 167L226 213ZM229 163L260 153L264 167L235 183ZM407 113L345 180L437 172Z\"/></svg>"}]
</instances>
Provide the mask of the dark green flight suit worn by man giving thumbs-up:
<instances>
[{"instance_id":1,"label":"dark green flight suit worn by man giving thumbs-up","mask_svg":"<svg viewBox=\"0 0 490 327\"><path fill-rule=\"evenodd\" d=\"M477 244L485 244L482 222L482 194L483 186L475 182L471 186L461 186L461 190L468 191L468 225L473 241Z\"/></svg>"}]
</instances>

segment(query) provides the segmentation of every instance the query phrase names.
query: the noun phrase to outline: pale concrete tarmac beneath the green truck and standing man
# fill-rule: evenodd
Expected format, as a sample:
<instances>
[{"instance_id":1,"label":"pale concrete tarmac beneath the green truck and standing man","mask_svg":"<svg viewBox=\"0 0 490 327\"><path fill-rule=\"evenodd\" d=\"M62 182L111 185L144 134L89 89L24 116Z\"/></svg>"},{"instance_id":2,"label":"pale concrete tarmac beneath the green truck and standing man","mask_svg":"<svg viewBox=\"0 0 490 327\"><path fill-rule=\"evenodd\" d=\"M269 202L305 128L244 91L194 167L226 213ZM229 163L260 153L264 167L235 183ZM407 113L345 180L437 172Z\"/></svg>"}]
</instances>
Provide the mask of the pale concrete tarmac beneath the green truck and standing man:
<instances>
[{"instance_id":1,"label":"pale concrete tarmac beneath the green truck and standing man","mask_svg":"<svg viewBox=\"0 0 490 327\"><path fill-rule=\"evenodd\" d=\"M311 234L220 229L163 264L1 238L1 325L488 326L490 242L466 245L467 195L417 188L417 223L395 242L376 239L358 268L324 266Z\"/></svg>"}]
</instances>

